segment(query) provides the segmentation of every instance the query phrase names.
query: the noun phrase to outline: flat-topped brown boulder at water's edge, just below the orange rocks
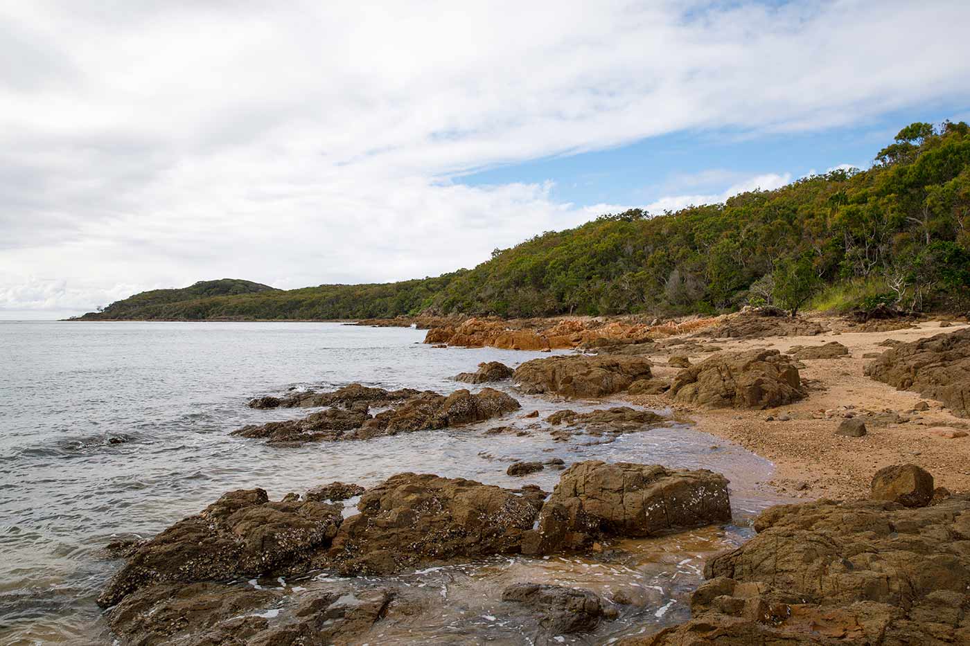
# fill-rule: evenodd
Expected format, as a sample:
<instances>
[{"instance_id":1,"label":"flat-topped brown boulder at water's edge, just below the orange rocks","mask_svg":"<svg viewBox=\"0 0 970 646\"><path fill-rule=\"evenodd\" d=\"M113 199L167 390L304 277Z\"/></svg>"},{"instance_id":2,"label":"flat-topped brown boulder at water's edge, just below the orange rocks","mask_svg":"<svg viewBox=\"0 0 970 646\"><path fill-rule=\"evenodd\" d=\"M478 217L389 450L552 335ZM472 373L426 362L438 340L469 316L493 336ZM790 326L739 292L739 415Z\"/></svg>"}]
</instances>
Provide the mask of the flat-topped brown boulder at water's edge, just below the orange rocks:
<instances>
[{"instance_id":1,"label":"flat-topped brown boulder at water's edge, just below the orange rocks","mask_svg":"<svg viewBox=\"0 0 970 646\"><path fill-rule=\"evenodd\" d=\"M643 357L571 355L527 361L515 370L514 379L530 395L592 398L626 390L650 376L650 361Z\"/></svg>"}]
</instances>

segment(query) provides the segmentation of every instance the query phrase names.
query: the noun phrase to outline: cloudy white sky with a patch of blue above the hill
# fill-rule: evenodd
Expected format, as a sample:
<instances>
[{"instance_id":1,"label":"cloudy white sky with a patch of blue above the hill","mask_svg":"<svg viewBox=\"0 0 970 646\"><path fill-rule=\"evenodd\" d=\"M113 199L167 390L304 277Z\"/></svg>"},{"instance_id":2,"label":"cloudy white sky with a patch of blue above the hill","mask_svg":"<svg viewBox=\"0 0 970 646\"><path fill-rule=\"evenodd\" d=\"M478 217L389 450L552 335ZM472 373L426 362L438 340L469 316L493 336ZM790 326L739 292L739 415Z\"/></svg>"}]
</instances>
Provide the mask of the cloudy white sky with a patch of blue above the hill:
<instances>
[{"instance_id":1,"label":"cloudy white sky with a patch of blue above the hill","mask_svg":"<svg viewBox=\"0 0 970 646\"><path fill-rule=\"evenodd\" d=\"M970 120L970 3L0 2L0 318L495 248Z\"/></svg>"}]
</instances>

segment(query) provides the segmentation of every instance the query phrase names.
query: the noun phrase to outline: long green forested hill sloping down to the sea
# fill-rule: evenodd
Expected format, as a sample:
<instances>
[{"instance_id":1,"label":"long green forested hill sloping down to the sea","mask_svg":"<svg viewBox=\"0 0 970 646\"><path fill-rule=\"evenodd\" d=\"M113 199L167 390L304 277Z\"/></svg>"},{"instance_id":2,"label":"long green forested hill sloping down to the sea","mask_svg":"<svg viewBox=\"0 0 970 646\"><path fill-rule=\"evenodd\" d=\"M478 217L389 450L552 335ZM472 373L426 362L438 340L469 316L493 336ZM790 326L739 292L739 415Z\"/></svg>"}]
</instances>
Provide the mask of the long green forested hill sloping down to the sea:
<instances>
[{"instance_id":1,"label":"long green forested hill sloping down to the sea","mask_svg":"<svg viewBox=\"0 0 970 646\"><path fill-rule=\"evenodd\" d=\"M242 293L196 289L225 282L145 292L82 318L684 313L771 302L966 307L970 127L914 123L867 171L833 171L662 215L604 215L497 249L472 270L289 291L245 281L230 281L250 286Z\"/></svg>"}]
</instances>

